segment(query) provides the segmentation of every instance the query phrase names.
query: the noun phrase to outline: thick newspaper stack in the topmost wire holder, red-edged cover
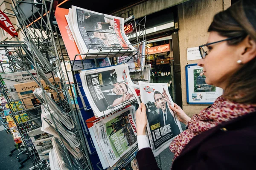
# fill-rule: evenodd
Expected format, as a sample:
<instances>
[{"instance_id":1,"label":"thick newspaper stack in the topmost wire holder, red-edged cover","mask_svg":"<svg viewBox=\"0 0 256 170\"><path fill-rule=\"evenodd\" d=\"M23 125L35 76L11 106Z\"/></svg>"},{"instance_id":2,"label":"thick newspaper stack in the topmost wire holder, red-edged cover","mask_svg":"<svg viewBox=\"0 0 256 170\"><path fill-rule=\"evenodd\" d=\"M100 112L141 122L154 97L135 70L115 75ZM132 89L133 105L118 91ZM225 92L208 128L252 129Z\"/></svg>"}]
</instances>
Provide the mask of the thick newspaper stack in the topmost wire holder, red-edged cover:
<instances>
[{"instance_id":1,"label":"thick newspaper stack in the topmost wire holder, red-edged cover","mask_svg":"<svg viewBox=\"0 0 256 170\"><path fill-rule=\"evenodd\" d=\"M135 50L125 35L123 18L76 6L72 6L68 14L65 13L64 9L57 8L56 20L61 34L68 34L70 39L76 42L79 53L87 54L80 59L105 58L106 55L107 57L128 56ZM64 43L68 46L70 41L64 39ZM74 60L74 55L72 56L71 60Z\"/></svg>"}]
</instances>

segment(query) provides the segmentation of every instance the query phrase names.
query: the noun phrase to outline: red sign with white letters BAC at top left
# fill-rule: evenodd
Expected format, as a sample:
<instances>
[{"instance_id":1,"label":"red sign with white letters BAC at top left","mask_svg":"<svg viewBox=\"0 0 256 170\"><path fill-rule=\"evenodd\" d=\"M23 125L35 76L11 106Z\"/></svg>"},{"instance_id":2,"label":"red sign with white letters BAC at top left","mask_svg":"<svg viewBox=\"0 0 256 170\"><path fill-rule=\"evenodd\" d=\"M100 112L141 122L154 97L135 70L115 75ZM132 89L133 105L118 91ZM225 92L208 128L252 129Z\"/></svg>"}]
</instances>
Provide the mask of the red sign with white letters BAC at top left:
<instances>
[{"instance_id":1,"label":"red sign with white letters BAC at top left","mask_svg":"<svg viewBox=\"0 0 256 170\"><path fill-rule=\"evenodd\" d=\"M18 33L12 25L9 17L0 11L0 27L3 28L7 33L9 33L12 37L18 37Z\"/></svg>"}]
</instances>

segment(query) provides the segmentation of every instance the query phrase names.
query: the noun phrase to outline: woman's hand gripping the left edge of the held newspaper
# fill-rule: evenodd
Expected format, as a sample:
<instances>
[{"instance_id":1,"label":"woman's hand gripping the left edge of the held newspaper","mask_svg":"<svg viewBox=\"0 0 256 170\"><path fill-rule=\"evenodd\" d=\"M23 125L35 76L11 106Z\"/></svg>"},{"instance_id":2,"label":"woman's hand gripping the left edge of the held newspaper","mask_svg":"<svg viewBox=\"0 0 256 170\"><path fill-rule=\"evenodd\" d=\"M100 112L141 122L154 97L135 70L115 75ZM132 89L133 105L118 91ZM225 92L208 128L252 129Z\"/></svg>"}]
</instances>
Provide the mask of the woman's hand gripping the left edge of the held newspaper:
<instances>
[{"instance_id":1,"label":"woman's hand gripping the left edge of the held newspaper","mask_svg":"<svg viewBox=\"0 0 256 170\"><path fill-rule=\"evenodd\" d=\"M137 135L146 135L145 130L147 123L146 107L144 103L141 103L136 111Z\"/></svg>"}]
</instances>

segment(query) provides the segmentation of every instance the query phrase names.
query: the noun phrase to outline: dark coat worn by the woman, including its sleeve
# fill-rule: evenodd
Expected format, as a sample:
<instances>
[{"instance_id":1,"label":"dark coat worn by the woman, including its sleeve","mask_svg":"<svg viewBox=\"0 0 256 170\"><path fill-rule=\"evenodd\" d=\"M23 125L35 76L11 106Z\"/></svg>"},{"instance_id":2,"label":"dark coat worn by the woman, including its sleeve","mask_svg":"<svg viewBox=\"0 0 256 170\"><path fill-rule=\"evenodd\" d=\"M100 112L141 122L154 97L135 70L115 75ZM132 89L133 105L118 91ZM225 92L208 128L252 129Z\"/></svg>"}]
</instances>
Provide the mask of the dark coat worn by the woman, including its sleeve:
<instances>
[{"instance_id":1,"label":"dark coat worn by the woman, including its sleeve","mask_svg":"<svg viewBox=\"0 0 256 170\"><path fill-rule=\"evenodd\" d=\"M151 148L137 153L140 170L159 170ZM251 170L256 167L256 112L195 136L172 170Z\"/></svg>"}]
</instances>

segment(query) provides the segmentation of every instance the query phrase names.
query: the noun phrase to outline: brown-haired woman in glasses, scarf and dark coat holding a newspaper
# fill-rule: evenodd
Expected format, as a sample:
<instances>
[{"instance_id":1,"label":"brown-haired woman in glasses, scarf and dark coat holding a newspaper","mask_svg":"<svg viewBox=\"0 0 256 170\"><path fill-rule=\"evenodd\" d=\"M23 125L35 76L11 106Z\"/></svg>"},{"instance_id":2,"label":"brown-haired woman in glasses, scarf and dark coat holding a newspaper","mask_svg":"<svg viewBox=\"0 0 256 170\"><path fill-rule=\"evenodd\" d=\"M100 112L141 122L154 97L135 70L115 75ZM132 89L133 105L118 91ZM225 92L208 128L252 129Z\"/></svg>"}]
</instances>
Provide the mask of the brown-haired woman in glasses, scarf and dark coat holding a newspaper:
<instances>
[{"instance_id":1,"label":"brown-haired woman in glasses, scarf and dark coat holding a newspaper","mask_svg":"<svg viewBox=\"0 0 256 170\"><path fill-rule=\"evenodd\" d=\"M206 45L199 47L205 82L224 89L214 104L190 119L178 106L187 130L170 144L172 170L255 169L256 161L256 5L241 0L216 14ZM136 113L140 170L159 169L147 138L142 103Z\"/></svg>"}]
</instances>

